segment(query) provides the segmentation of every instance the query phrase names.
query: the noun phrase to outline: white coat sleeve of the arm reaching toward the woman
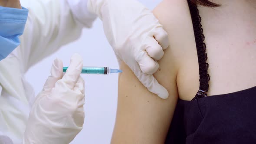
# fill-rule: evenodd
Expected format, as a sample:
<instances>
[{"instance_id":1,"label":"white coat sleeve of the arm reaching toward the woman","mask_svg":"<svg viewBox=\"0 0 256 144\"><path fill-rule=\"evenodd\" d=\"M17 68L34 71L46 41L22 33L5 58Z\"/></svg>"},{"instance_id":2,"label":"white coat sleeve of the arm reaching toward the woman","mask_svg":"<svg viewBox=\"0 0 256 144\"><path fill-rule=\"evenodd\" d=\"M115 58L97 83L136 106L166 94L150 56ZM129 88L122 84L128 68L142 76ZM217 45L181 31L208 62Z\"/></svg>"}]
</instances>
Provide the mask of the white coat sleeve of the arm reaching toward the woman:
<instances>
[{"instance_id":1,"label":"white coat sleeve of the arm reaching toward the woman","mask_svg":"<svg viewBox=\"0 0 256 144\"><path fill-rule=\"evenodd\" d=\"M79 38L91 27L95 16L82 13L87 0L23 0L29 17L17 49L23 72L61 46ZM84 4L85 6L83 6Z\"/></svg>"}]
</instances>

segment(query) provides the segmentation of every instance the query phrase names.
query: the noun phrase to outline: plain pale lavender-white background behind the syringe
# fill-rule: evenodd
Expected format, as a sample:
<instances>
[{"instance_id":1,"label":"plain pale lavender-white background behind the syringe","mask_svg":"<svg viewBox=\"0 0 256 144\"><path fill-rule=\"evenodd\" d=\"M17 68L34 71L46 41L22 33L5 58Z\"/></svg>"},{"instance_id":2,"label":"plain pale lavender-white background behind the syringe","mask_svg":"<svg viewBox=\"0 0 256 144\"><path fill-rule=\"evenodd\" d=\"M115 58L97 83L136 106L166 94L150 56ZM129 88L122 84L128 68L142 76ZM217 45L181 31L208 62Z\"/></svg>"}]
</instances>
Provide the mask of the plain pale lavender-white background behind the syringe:
<instances>
[{"instance_id":1,"label":"plain pale lavender-white background behind the syringe","mask_svg":"<svg viewBox=\"0 0 256 144\"><path fill-rule=\"evenodd\" d=\"M22 1L22 0L21 0ZM153 10L161 0L139 0ZM52 56L33 66L26 74L27 80L38 94L50 74L54 59L69 65L73 53L82 55L84 65L109 66L118 69L118 62L105 38L102 22L97 19L92 29L84 29L77 41L70 43ZM85 124L71 144L110 144L117 108L118 75L82 75L85 79Z\"/></svg>"}]
</instances>

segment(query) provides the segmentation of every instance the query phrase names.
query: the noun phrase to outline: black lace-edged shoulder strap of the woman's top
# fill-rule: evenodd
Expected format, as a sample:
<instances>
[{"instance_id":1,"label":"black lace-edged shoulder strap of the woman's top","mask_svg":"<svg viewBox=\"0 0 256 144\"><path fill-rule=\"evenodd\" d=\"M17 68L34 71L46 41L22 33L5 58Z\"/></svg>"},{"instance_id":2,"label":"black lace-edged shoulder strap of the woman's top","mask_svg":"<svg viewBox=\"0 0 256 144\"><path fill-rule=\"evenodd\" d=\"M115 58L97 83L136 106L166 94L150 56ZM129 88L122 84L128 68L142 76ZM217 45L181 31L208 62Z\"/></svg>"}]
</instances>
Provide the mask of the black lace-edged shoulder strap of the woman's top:
<instances>
[{"instance_id":1,"label":"black lace-edged shoulder strap of the woman's top","mask_svg":"<svg viewBox=\"0 0 256 144\"><path fill-rule=\"evenodd\" d=\"M199 16L199 11L197 9L197 5L191 3L190 0L187 0L188 6L190 9L191 19L194 28L195 41L197 46L197 57L198 57L198 65L199 65L199 75L200 75L200 87L197 92L195 100L197 98L202 98L207 96L208 88L209 88L209 80L210 75L208 74L208 63L207 61L207 53L206 53L206 44L204 43L204 35L203 29L201 25L201 17Z\"/></svg>"}]
</instances>

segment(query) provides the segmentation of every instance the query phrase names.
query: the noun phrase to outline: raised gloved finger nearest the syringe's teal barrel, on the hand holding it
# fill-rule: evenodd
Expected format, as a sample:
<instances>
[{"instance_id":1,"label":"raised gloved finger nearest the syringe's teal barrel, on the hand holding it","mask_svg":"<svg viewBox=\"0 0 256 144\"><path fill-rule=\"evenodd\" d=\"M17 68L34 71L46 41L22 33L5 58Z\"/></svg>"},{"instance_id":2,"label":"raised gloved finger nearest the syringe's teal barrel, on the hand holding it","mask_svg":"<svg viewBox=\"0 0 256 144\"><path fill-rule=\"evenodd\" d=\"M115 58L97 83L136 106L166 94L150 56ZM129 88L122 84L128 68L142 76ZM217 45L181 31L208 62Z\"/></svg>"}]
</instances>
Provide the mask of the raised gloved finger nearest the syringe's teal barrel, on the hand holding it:
<instances>
[{"instance_id":1,"label":"raised gloved finger nearest the syringe's teal barrel, on the hand holding it","mask_svg":"<svg viewBox=\"0 0 256 144\"><path fill-rule=\"evenodd\" d=\"M70 59L69 68L67 69L65 75L62 78L62 82L64 82L68 88L73 90L82 72L82 67L82 56L80 56L79 54L74 54Z\"/></svg>"}]
</instances>

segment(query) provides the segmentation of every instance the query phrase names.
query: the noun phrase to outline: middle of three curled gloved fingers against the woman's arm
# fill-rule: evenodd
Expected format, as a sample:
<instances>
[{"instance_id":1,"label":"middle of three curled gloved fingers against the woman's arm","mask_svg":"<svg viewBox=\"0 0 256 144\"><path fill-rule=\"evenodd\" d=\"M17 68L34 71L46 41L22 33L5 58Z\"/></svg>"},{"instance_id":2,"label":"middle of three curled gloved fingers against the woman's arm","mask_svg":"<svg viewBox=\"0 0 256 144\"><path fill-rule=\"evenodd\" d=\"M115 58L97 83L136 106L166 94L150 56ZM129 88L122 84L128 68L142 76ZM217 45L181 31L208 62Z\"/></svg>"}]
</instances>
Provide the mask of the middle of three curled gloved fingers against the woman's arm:
<instances>
[{"instance_id":1,"label":"middle of three curled gloved fingers against the woman's arm","mask_svg":"<svg viewBox=\"0 0 256 144\"><path fill-rule=\"evenodd\" d=\"M143 45L144 50L148 52L148 55L154 60L159 60L164 56L164 51L159 43L153 37L147 37Z\"/></svg>"}]
</instances>

